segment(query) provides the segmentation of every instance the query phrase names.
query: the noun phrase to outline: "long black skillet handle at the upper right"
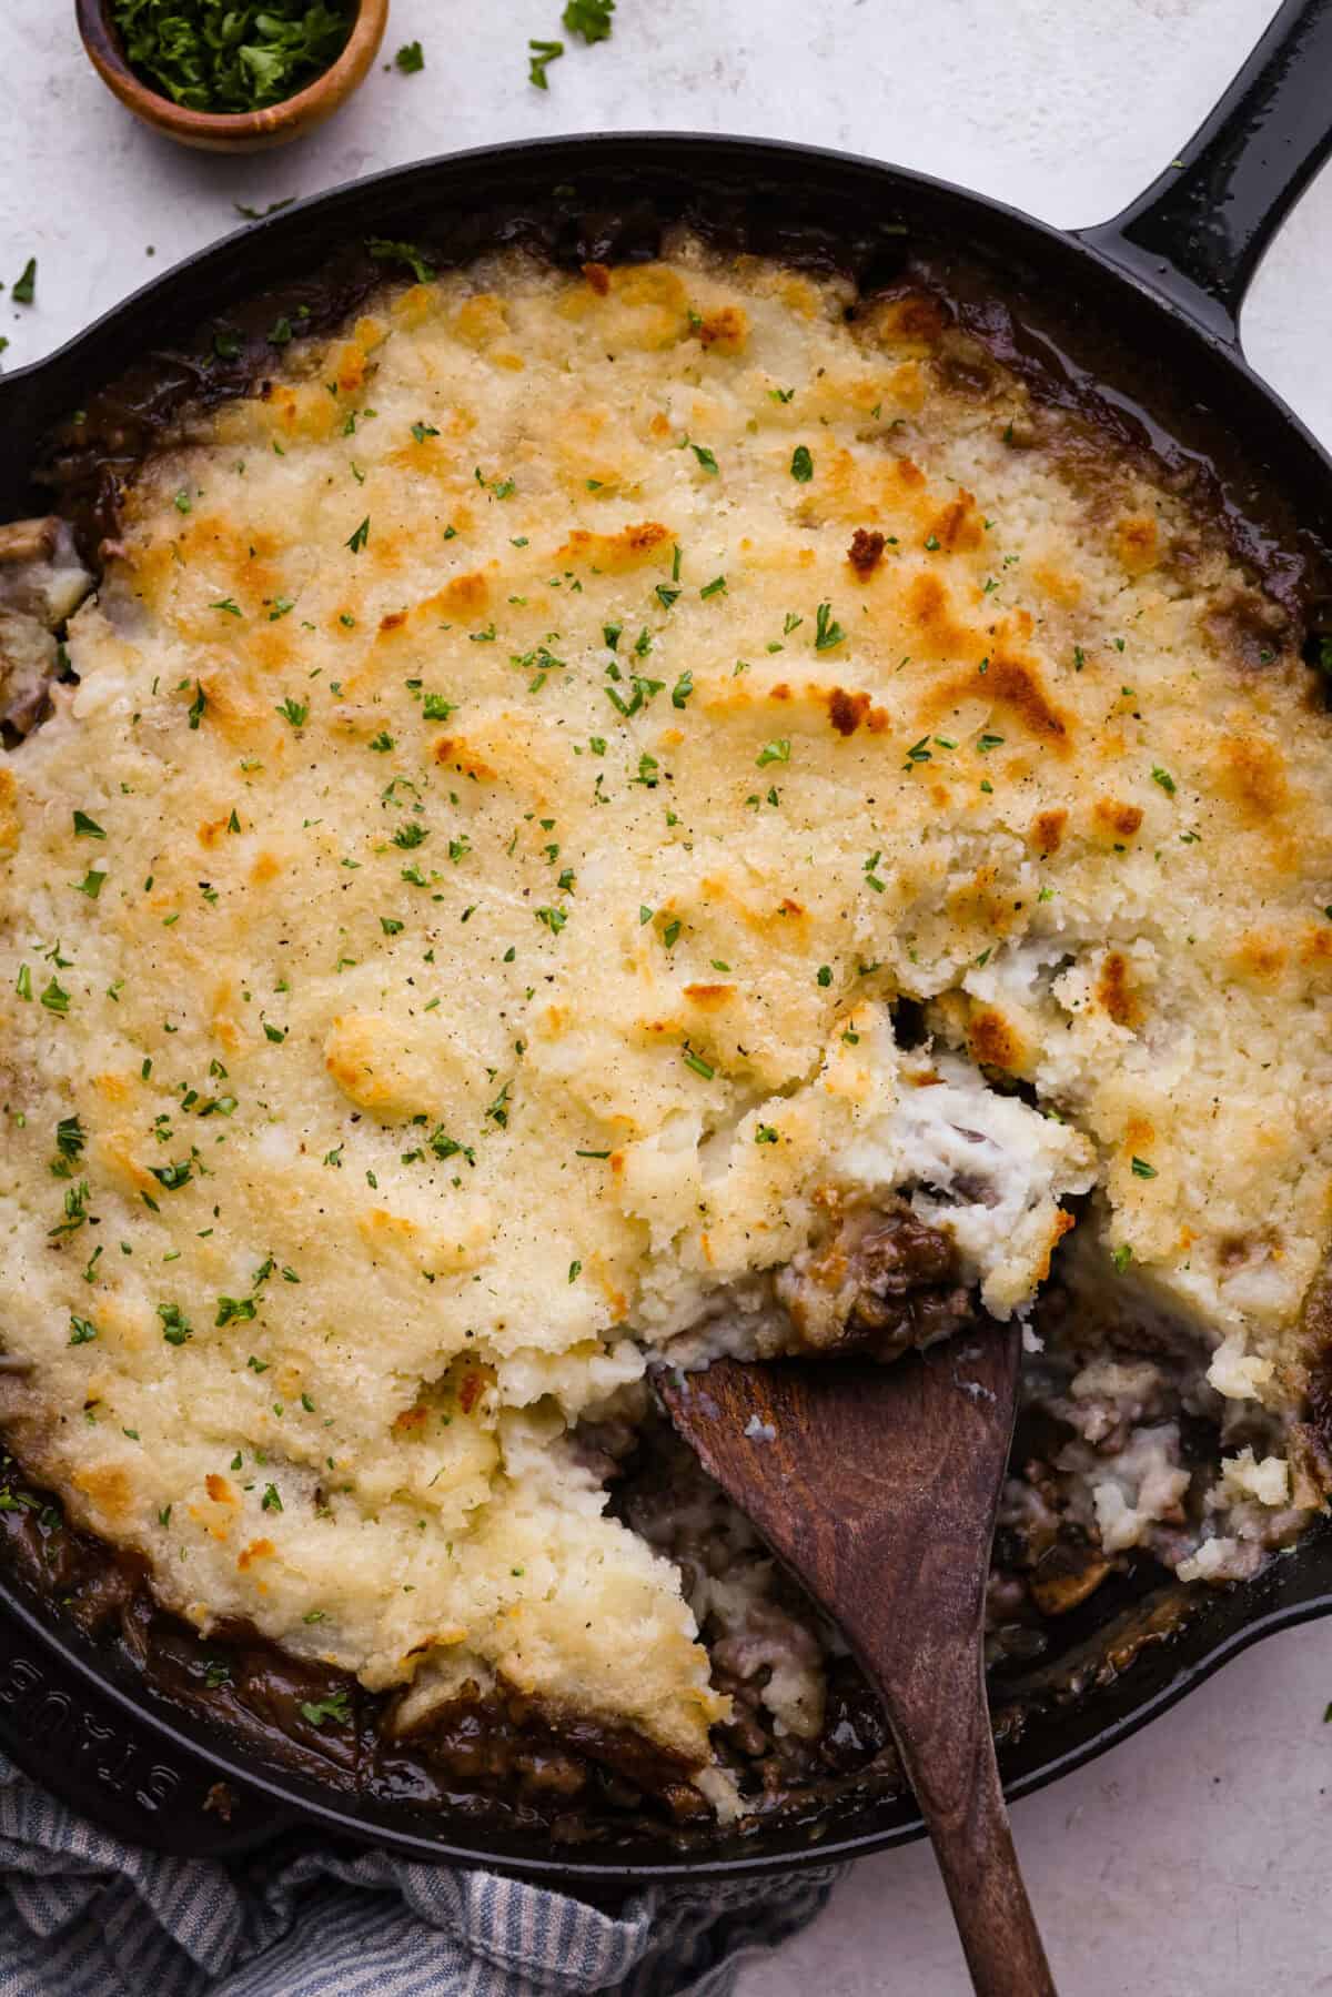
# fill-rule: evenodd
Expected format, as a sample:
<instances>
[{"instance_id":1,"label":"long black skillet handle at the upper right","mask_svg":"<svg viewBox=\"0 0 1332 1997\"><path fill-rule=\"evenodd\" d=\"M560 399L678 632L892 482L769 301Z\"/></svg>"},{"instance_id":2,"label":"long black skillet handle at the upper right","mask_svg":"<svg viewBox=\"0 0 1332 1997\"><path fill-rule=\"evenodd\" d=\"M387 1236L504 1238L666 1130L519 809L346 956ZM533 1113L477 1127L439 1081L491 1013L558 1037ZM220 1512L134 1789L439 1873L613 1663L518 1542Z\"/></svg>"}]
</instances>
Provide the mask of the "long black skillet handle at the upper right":
<instances>
[{"instance_id":1,"label":"long black skillet handle at the upper right","mask_svg":"<svg viewBox=\"0 0 1332 1997\"><path fill-rule=\"evenodd\" d=\"M1238 345L1244 292L1330 150L1332 0L1284 0L1178 160L1078 240Z\"/></svg>"}]
</instances>

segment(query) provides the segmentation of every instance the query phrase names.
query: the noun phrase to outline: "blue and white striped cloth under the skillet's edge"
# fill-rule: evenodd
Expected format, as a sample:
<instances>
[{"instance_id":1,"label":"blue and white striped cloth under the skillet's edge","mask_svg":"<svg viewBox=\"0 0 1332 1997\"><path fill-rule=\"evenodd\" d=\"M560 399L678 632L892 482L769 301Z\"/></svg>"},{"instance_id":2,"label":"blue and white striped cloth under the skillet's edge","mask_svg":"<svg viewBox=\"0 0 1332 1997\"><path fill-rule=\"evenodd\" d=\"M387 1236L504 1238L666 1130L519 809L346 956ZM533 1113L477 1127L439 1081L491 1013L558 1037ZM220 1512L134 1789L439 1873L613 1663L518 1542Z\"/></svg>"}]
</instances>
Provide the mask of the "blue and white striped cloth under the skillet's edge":
<instances>
[{"instance_id":1,"label":"blue and white striped cloth under the skillet's edge","mask_svg":"<svg viewBox=\"0 0 1332 1997\"><path fill-rule=\"evenodd\" d=\"M124 1845L0 1759L0 1997L729 1997L835 1869L649 1887L619 1913L286 1837L220 1865Z\"/></svg>"}]
</instances>

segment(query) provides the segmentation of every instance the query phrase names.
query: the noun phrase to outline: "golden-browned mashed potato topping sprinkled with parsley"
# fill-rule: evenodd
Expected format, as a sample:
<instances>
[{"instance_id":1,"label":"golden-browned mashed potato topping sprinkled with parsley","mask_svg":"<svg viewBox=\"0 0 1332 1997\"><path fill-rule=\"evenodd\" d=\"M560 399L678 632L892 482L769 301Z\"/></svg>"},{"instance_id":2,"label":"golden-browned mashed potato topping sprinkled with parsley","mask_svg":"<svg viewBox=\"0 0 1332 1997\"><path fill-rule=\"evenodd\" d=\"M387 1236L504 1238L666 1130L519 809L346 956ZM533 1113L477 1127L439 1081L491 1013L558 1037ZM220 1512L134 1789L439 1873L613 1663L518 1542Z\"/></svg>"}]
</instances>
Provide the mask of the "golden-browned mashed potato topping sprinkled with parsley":
<instances>
[{"instance_id":1,"label":"golden-browned mashed potato topping sprinkled with parsley","mask_svg":"<svg viewBox=\"0 0 1332 1997\"><path fill-rule=\"evenodd\" d=\"M687 242L385 288L144 467L0 761L10 1428L413 1717L499 1675L707 1757L573 1426L781 1344L861 1208L1006 1318L1096 1186L1214 1386L1300 1392L1328 719L1178 497L847 304Z\"/></svg>"}]
</instances>

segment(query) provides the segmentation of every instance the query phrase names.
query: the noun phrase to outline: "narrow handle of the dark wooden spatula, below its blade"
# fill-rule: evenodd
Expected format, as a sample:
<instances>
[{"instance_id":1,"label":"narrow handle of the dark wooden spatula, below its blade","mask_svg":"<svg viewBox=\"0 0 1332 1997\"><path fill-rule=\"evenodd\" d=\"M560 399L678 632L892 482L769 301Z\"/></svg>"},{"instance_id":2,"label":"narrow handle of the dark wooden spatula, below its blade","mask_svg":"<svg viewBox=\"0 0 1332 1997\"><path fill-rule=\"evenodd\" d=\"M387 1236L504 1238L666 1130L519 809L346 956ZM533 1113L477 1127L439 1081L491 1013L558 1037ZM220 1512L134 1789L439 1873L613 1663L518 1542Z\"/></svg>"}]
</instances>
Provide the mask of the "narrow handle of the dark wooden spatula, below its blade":
<instances>
[{"instance_id":1,"label":"narrow handle of the dark wooden spatula, below its blade","mask_svg":"<svg viewBox=\"0 0 1332 1997\"><path fill-rule=\"evenodd\" d=\"M979 1646L927 1644L919 1673L875 1677L979 1997L1056 1997L1012 1849Z\"/></svg>"}]
</instances>

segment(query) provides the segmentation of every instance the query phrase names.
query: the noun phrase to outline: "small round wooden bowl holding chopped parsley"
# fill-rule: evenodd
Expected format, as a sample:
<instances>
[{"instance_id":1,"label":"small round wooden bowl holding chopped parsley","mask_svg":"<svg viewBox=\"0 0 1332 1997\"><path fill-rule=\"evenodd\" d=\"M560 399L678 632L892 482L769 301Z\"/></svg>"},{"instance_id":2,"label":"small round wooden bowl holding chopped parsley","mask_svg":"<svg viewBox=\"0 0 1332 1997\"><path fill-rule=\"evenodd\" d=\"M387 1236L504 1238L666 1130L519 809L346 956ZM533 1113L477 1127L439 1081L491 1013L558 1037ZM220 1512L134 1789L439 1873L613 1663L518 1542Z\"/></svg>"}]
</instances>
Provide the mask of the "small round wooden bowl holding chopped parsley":
<instances>
[{"instance_id":1,"label":"small round wooden bowl holding chopped parsley","mask_svg":"<svg viewBox=\"0 0 1332 1997\"><path fill-rule=\"evenodd\" d=\"M88 58L120 102L154 132L204 152L266 152L314 132L345 104L379 54L389 0L359 0L355 22L337 62L282 104L260 112L192 112L142 82L130 68L112 26L110 0L78 0L78 32Z\"/></svg>"}]
</instances>

